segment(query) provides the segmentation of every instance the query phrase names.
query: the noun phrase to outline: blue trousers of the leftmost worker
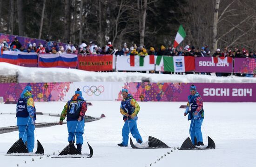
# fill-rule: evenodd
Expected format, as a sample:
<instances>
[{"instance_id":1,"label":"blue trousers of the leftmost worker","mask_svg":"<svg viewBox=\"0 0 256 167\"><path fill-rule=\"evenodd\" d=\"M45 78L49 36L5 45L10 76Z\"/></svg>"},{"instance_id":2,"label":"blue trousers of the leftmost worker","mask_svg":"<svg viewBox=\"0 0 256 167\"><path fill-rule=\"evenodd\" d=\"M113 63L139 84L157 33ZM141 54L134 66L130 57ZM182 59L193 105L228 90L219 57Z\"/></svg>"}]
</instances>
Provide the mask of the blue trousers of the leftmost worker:
<instances>
[{"instance_id":1,"label":"blue trousers of the leftmost worker","mask_svg":"<svg viewBox=\"0 0 256 167\"><path fill-rule=\"evenodd\" d=\"M27 126L27 129L26 129ZM32 123L28 123L27 125L19 125L19 138L22 138L23 142L27 141L27 150L28 152L33 152L34 149L34 125ZM26 131L25 131L26 129Z\"/></svg>"}]
</instances>

